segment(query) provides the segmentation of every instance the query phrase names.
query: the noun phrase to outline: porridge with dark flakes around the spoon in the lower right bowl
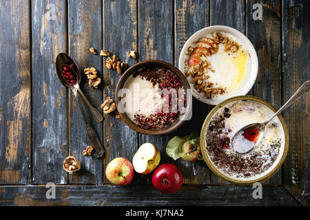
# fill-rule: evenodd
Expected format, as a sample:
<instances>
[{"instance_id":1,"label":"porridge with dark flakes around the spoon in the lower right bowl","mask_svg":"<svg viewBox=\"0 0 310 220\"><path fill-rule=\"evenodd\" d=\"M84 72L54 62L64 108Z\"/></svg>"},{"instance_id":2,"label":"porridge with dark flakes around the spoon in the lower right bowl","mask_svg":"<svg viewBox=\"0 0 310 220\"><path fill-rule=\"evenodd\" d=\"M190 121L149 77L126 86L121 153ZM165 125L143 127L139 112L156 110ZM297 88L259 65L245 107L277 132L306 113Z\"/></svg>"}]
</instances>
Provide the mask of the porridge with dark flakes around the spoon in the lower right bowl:
<instances>
[{"instance_id":1,"label":"porridge with dark flakes around the spoon in the lower right bowl","mask_svg":"<svg viewBox=\"0 0 310 220\"><path fill-rule=\"evenodd\" d=\"M285 131L278 117L273 118L265 128L265 135L253 151L240 154L232 150L231 140L243 126L264 122L273 111L254 100L236 100L225 104L211 117L207 126L205 146L212 164L223 175L237 180L258 179L269 173L278 164L285 146ZM251 131L256 137L256 131ZM246 149L246 133L240 141L240 151ZM238 151L238 152L240 152Z\"/></svg>"}]
</instances>

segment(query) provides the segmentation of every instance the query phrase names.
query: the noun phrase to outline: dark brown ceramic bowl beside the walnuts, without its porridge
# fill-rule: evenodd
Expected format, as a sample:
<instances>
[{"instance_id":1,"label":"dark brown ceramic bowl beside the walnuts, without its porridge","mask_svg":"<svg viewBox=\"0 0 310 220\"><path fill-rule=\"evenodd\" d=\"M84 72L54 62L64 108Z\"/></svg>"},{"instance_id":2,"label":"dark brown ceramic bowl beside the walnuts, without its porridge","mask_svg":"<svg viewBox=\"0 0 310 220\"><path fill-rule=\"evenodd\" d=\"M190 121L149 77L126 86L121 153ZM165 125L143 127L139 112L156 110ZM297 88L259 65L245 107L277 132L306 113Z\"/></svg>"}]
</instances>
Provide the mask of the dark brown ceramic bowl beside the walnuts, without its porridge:
<instances>
[{"instance_id":1,"label":"dark brown ceramic bowl beside the walnuts, without its porridge","mask_svg":"<svg viewBox=\"0 0 310 220\"><path fill-rule=\"evenodd\" d=\"M180 118L178 118L176 122L174 122L173 124L170 124L169 126L166 126L164 129L160 129L156 131L147 130L147 129L143 129L141 126L138 126L138 124L135 124L134 122L132 122L132 120L130 120L130 118L127 116L127 113L121 113L120 107L118 107L118 103L121 101L121 97L118 97L118 91L120 91L120 89L123 88L123 85L125 84L127 78L131 76L132 74L134 74L138 69L141 69L143 67L150 67L150 66L158 66L158 67L164 67L165 69L169 69L171 72L174 72L174 74L176 74L180 78L186 93L187 93L187 89L190 89L189 83L187 79L185 78L185 76L182 74L182 72L180 72L180 70L178 70L173 65L166 63L164 61L156 61L156 60L141 61L139 63L136 63L135 65L132 65L132 67L127 69L124 72L124 74L121 76L120 80L118 81L116 85L116 91L115 91L116 108L118 110L119 115L123 119L123 121L128 126L130 126L130 128L133 129L134 131L138 133L143 133L145 135L163 135L166 133L171 133L172 131L175 131L176 129L178 129L178 127L181 126L181 124L183 124L184 120L180 120ZM191 113L191 111L192 111L192 94L190 94L190 96L187 97L187 104L186 104L186 109L185 109L185 114L184 114L185 118L187 118L187 116L189 115L189 113Z\"/></svg>"}]
</instances>

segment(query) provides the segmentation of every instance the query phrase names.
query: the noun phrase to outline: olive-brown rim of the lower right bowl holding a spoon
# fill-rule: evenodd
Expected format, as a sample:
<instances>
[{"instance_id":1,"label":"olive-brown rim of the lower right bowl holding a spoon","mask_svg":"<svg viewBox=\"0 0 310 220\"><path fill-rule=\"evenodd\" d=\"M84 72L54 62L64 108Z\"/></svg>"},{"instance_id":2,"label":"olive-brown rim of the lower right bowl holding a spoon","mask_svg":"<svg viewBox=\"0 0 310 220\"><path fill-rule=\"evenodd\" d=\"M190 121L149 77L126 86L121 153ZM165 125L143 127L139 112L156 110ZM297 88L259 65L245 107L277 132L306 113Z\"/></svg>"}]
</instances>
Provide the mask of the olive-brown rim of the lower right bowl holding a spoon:
<instances>
[{"instance_id":1,"label":"olive-brown rim of the lower right bowl holding a spoon","mask_svg":"<svg viewBox=\"0 0 310 220\"><path fill-rule=\"evenodd\" d=\"M289 151L289 131L287 129L287 125L285 124L284 118L282 117L281 114L279 114L278 118L282 124L283 131L285 133L285 146L284 146L284 151L283 151L283 154L282 154L280 161L269 173L267 173L266 175L264 175L258 179L253 179L253 180L249 180L249 181L244 181L244 180L241 181L241 180L232 179L226 175L223 175L223 173L220 173L218 168L216 168L216 166L214 166L214 164L212 164L211 159L209 159L209 155L207 153L207 148L205 146L205 133L207 131L207 125L209 124L209 120L211 120L214 113L216 113L216 111L218 111L218 109L220 109L220 107L223 107L225 104L227 104L229 102L233 102L236 100L244 100L244 99L260 102L260 104L265 104L265 106L269 107L275 113L277 111L276 107L273 107L272 104L270 104L266 100L263 100L262 98L259 98L257 96L234 96L234 97L228 98L227 100L224 100L223 102L220 102L219 104L216 105L216 107L214 107L208 113L207 117L205 118L205 121L203 122L203 127L200 131L200 146L201 146L201 151L203 153L203 159L204 159L205 163L207 164L207 166L210 168L210 170L213 173L218 175L218 177L221 177L221 178L225 179L226 181L229 181L233 184L238 184L238 185L249 185L249 184L254 184L255 182L258 182L258 181L260 182L260 181L263 181L265 179L268 179L274 173L276 173L276 171L278 171L278 169L282 166L283 162L285 162L285 158L287 157L287 153Z\"/></svg>"}]
</instances>

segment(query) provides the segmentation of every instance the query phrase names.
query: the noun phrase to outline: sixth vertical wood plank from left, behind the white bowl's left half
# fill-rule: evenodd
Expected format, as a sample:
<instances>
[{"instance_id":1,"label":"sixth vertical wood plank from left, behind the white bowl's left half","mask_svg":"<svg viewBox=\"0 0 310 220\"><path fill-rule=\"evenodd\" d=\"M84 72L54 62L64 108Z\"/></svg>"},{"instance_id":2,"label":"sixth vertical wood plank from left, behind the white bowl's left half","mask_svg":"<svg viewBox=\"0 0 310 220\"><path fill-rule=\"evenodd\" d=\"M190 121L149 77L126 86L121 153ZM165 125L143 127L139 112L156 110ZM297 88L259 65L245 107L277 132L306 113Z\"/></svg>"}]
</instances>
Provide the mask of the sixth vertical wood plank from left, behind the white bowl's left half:
<instances>
[{"instance_id":1,"label":"sixth vertical wood plank from left, behind the white bowl's left half","mask_svg":"<svg viewBox=\"0 0 310 220\"><path fill-rule=\"evenodd\" d=\"M209 26L209 1L178 1L175 3L175 56L174 63L178 67L178 59L183 45L192 34ZM200 134L203 121L211 107L193 98L193 113L191 120L184 122L176 131L176 135L184 136L196 132ZM183 171L184 182L187 184L209 184L210 171L205 162L187 162L184 159L176 161Z\"/></svg>"}]
</instances>

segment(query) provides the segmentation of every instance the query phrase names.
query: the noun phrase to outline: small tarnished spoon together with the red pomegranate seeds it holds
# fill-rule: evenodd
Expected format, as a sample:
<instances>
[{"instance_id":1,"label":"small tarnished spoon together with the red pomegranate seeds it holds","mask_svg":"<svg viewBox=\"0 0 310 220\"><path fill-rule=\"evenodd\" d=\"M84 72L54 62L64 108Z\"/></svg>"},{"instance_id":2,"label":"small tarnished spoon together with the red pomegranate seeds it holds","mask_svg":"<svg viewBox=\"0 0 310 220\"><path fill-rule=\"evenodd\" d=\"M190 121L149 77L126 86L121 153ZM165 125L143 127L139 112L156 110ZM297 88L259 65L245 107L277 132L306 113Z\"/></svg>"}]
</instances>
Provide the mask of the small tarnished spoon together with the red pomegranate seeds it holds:
<instances>
[{"instance_id":1,"label":"small tarnished spoon together with the red pomegranate seeds it holds","mask_svg":"<svg viewBox=\"0 0 310 220\"><path fill-rule=\"evenodd\" d=\"M70 65L68 65L68 63L70 63ZM75 87L77 91L79 91L79 94L81 94L87 106L90 108L90 113L92 113L96 122L102 122L103 115L101 115L101 113L92 106L79 86L79 83L81 83L81 74L79 74L79 67L77 67L72 58L70 58L67 54L58 54L56 58L56 69L57 76L59 77L61 83L68 88Z\"/></svg>"}]
</instances>

